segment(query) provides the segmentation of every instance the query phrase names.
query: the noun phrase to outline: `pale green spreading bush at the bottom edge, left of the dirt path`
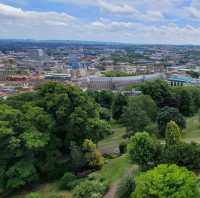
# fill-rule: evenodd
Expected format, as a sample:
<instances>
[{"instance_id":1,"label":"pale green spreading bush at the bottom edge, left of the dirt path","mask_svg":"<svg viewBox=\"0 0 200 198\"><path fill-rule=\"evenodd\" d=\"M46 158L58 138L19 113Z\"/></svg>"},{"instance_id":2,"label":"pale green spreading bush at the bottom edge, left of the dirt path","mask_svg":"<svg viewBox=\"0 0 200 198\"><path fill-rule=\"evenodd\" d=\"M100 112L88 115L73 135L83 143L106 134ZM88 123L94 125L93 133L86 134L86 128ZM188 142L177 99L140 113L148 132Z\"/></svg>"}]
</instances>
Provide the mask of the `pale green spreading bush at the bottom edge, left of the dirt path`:
<instances>
[{"instance_id":1,"label":"pale green spreading bush at the bottom edge, left of the dirt path","mask_svg":"<svg viewBox=\"0 0 200 198\"><path fill-rule=\"evenodd\" d=\"M73 198L102 198L107 185L97 180L82 182L73 190Z\"/></svg>"}]
</instances>

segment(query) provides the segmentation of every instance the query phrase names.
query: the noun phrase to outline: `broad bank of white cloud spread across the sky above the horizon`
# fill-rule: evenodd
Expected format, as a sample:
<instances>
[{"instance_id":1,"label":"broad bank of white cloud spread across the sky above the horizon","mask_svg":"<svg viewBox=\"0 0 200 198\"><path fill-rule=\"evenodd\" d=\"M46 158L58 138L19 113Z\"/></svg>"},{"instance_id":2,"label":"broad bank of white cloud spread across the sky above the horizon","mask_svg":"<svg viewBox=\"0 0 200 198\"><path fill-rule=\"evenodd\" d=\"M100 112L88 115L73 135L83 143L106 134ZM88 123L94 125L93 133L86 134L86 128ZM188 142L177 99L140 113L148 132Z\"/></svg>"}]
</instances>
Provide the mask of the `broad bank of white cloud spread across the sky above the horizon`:
<instances>
[{"instance_id":1,"label":"broad bank of white cloud spread across the sky above the horizon","mask_svg":"<svg viewBox=\"0 0 200 198\"><path fill-rule=\"evenodd\" d=\"M66 1L69 2L69 0ZM80 0L75 1L81 3ZM101 14L104 18L90 19L86 23L84 18L75 18L67 13L27 11L0 3L0 24L2 26L0 38L200 44L200 27L193 26L192 23L180 26L178 23L171 23L172 20L165 20L166 12L158 0L85 0L82 4L84 2L93 6L98 5L103 10ZM143 5L142 2L154 2L156 5L150 6L149 9L142 9L140 7ZM180 5L179 0L163 0L163 2L169 7ZM198 9L194 5L185 8L187 17L190 13L190 18L192 16L197 19Z\"/></svg>"}]
</instances>

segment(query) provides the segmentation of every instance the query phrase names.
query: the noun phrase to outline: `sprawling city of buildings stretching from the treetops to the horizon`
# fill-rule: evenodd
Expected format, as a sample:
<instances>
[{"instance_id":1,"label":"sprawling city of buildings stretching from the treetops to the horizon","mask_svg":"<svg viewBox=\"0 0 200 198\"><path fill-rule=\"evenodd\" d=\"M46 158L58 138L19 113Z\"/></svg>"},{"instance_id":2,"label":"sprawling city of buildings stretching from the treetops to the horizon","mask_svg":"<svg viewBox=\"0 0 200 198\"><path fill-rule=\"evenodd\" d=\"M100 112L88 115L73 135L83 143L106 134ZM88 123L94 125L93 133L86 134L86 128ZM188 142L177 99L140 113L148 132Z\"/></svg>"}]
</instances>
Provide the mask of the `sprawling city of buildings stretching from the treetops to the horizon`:
<instances>
[{"instance_id":1,"label":"sprawling city of buildings stretching from the treetops to the horizon","mask_svg":"<svg viewBox=\"0 0 200 198\"><path fill-rule=\"evenodd\" d=\"M122 91L155 79L199 86L199 56L199 46L2 40L0 95L31 91L50 80L83 90Z\"/></svg>"}]
</instances>

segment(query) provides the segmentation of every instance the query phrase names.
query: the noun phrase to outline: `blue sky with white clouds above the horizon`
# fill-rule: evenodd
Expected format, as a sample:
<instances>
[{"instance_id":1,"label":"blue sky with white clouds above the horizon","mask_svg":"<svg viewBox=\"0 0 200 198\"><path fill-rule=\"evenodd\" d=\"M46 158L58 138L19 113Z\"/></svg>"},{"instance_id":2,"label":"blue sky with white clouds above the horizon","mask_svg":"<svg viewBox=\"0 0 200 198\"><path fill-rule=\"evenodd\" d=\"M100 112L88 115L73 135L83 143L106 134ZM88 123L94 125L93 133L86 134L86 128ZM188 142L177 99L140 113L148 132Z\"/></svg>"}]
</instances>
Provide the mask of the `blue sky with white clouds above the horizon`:
<instances>
[{"instance_id":1,"label":"blue sky with white clouds above the horizon","mask_svg":"<svg viewBox=\"0 0 200 198\"><path fill-rule=\"evenodd\" d=\"M0 39L200 44L200 0L0 0Z\"/></svg>"}]
</instances>

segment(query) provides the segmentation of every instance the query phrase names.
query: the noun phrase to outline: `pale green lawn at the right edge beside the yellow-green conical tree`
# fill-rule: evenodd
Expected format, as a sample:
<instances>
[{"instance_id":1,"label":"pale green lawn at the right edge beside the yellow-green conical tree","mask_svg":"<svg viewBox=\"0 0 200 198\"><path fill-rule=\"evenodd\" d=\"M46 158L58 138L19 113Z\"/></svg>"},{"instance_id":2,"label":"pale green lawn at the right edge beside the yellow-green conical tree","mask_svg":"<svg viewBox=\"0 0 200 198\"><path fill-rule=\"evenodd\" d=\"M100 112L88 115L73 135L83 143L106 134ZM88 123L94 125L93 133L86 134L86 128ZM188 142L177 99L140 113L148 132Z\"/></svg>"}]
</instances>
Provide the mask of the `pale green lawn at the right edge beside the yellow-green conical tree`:
<instances>
[{"instance_id":1,"label":"pale green lawn at the right edge beside the yellow-green conical tree","mask_svg":"<svg viewBox=\"0 0 200 198\"><path fill-rule=\"evenodd\" d=\"M198 116L187 119L187 127L183 133L183 139L185 141L200 143L200 121Z\"/></svg>"}]
</instances>

